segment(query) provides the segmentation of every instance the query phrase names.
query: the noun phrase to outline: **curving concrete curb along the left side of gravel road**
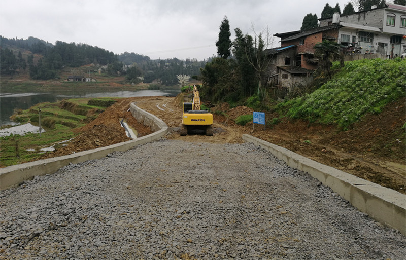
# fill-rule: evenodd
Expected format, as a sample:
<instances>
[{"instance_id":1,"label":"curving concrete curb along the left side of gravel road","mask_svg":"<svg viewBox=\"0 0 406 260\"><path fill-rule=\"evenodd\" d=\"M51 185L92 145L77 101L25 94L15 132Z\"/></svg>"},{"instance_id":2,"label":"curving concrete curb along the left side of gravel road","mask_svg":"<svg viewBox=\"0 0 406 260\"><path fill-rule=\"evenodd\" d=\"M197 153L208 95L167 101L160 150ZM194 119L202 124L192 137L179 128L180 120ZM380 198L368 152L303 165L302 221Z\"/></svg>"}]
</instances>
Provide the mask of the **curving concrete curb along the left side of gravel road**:
<instances>
[{"instance_id":1,"label":"curving concrete curb along the left side of gravel road","mask_svg":"<svg viewBox=\"0 0 406 260\"><path fill-rule=\"evenodd\" d=\"M122 143L113 144L106 147L83 151L80 153L65 155L50 159L39 160L30 163L12 165L0 169L0 190L16 187L25 180L32 179L34 176L52 174L63 166L77 164L88 160L100 159L113 152L124 152L139 144L155 141L164 136L167 131L167 125L156 116L142 110L135 103L130 104L130 111L134 118L150 126L155 131L152 134L130 140Z\"/></svg>"}]
</instances>

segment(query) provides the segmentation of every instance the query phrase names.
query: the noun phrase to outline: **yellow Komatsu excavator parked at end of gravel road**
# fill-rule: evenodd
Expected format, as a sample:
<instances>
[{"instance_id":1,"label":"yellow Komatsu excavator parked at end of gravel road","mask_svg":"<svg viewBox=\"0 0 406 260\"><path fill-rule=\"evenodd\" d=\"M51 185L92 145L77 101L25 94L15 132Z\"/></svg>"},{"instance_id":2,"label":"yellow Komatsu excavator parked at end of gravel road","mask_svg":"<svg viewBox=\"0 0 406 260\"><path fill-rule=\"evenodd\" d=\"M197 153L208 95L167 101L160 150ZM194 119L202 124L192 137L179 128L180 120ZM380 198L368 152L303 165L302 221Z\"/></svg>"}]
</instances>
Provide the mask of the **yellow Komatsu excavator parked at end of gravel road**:
<instances>
[{"instance_id":1,"label":"yellow Komatsu excavator parked at end of gravel road","mask_svg":"<svg viewBox=\"0 0 406 260\"><path fill-rule=\"evenodd\" d=\"M203 130L206 135L213 135L213 114L208 110L200 109L199 91L193 85L192 103L182 105L181 135L187 135L193 130Z\"/></svg>"}]
</instances>

